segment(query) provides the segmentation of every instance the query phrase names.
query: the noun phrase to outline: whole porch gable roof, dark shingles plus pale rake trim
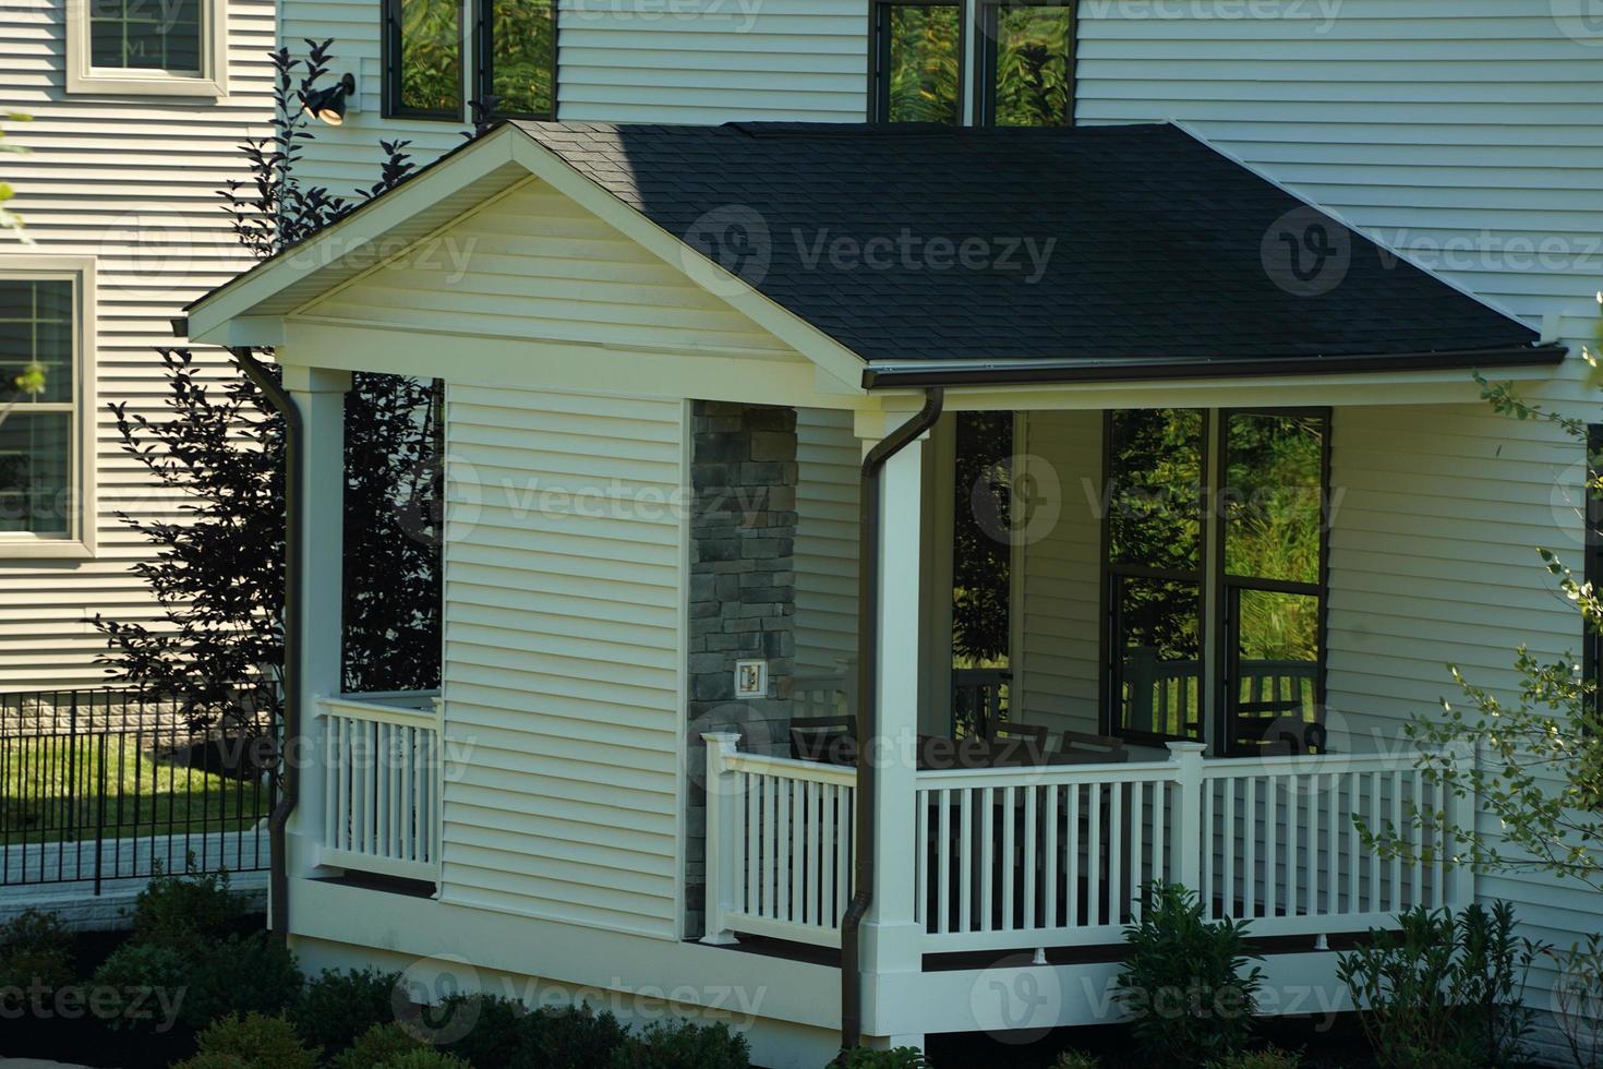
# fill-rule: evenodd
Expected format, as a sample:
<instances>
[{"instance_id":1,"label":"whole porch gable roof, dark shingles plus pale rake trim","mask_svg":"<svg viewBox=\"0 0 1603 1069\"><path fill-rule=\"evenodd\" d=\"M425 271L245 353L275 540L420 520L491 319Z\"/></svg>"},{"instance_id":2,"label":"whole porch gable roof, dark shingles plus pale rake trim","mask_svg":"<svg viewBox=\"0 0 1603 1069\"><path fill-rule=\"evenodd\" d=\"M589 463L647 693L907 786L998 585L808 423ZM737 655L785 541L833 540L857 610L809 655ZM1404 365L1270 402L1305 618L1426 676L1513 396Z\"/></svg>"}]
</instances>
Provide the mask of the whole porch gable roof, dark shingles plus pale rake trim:
<instances>
[{"instance_id":1,"label":"whole porch gable roof, dark shingles plus pale rake trim","mask_svg":"<svg viewBox=\"0 0 1603 1069\"><path fill-rule=\"evenodd\" d=\"M194 337L269 343L531 173L869 388L1565 354L1173 125L507 123L191 305Z\"/></svg>"}]
</instances>

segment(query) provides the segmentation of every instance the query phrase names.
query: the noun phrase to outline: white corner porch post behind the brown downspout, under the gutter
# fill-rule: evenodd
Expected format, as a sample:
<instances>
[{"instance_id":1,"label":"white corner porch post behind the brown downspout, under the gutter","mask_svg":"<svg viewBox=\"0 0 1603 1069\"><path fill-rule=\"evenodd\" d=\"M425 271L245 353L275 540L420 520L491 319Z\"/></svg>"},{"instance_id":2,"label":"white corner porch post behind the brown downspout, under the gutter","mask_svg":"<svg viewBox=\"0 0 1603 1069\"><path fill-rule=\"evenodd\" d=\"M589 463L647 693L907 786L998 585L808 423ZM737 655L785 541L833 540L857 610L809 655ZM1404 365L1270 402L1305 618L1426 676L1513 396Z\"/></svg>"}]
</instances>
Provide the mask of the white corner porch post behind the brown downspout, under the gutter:
<instances>
[{"instance_id":1,"label":"white corner porch post behind the brown downspout, under the gutter","mask_svg":"<svg viewBox=\"0 0 1603 1069\"><path fill-rule=\"evenodd\" d=\"M878 857L874 904L862 922L864 1027L874 1027L877 976L917 973L923 930L915 922L915 753L919 734L920 518L925 442L914 441L882 471L878 739L874 760ZM880 1006L883 1010L885 1006Z\"/></svg>"}]
</instances>

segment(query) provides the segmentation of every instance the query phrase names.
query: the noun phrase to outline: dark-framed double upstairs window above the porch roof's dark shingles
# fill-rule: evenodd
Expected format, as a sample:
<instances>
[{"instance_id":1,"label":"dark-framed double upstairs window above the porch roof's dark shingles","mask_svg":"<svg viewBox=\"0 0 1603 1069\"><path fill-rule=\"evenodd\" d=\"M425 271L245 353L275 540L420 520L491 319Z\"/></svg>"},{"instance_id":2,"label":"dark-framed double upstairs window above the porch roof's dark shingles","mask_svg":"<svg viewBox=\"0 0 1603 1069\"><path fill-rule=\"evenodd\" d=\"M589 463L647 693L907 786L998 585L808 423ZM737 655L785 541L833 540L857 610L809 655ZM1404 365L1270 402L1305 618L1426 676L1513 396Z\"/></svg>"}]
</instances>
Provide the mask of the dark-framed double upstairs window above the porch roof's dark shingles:
<instances>
[{"instance_id":1,"label":"dark-framed double upstairs window above the porch roof's dark shingles","mask_svg":"<svg viewBox=\"0 0 1603 1069\"><path fill-rule=\"evenodd\" d=\"M1074 40L1074 0L875 0L870 119L1071 125Z\"/></svg>"}]
</instances>

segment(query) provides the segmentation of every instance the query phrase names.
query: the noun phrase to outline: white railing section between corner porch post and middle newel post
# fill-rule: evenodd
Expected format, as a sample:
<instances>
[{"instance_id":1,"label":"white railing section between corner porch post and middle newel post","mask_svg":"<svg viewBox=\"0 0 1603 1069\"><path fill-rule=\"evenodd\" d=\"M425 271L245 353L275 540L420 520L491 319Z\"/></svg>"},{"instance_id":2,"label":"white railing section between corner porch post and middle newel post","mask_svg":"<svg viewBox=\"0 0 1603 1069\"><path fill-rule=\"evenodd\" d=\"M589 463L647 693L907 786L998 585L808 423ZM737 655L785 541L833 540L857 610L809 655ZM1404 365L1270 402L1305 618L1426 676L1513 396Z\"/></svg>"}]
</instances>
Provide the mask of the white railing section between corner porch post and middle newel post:
<instances>
[{"instance_id":1,"label":"white railing section between corner porch post and middle newel post","mask_svg":"<svg viewBox=\"0 0 1603 1069\"><path fill-rule=\"evenodd\" d=\"M925 950L1117 942L1141 885L1180 878L1183 771L1140 761L919 773L914 917Z\"/></svg>"}]
</instances>

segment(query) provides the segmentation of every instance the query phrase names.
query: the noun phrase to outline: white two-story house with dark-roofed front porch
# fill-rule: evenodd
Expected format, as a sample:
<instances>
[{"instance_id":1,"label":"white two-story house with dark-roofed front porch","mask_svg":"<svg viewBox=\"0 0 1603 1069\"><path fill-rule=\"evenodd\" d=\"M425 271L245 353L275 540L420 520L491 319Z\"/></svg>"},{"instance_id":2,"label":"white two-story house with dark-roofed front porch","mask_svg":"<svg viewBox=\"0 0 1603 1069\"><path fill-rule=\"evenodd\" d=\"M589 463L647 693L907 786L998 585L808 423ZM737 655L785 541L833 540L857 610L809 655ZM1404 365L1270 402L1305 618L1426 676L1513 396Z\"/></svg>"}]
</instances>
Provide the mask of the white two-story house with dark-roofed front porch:
<instances>
[{"instance_id":1,"label":"white two-story house with dark-roofed front porch","mask_svg":"<svg viewBox=\"0 0 1603 1069\"><path fill-rule=\"evenodd\" d=\"M1449 662L1582 651L1534 550L1595 556L1584 450L1472 380L1595 420L1579 8L285 0L282 35L356 85L303 176L439 154L189 309L279 346L305 422L274 909L308 962L810 1066L1109 1019L1148 880L1286 938L1278 1013L1343 1005L1329 941L1411 906L1598 926L1353 825L1473 819L1401 744ZM438 704L337 694L351 370L447 383ZM955 473L995 413L983 683L954 532L992 495Z\"/></svg>"}]
</instances>

